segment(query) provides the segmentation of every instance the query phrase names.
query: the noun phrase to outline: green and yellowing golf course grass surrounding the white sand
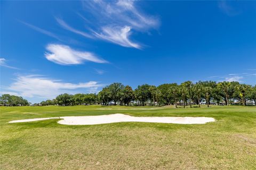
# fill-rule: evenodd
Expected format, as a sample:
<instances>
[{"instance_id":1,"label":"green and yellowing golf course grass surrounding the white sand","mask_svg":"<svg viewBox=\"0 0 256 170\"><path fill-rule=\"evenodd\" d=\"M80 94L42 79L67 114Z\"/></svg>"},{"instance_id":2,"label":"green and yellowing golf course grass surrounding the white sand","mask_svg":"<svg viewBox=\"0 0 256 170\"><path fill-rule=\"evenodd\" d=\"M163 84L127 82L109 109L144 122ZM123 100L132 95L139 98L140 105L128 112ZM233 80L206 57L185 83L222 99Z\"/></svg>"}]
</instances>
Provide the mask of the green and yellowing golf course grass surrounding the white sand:
<instances>
[{"instance_id":1,"label":"green and yellowing golf course grass surrounding the white sand","mask_svg":"<svg viewBox=\"0 0 256 170\"><path fill-rule=\"evenodd\" d=\"M0 169L256 169L256 107L0 107ZM206 116L181 125L61 125L26 118L123 113Z\"/></svg>"}]
</instances>

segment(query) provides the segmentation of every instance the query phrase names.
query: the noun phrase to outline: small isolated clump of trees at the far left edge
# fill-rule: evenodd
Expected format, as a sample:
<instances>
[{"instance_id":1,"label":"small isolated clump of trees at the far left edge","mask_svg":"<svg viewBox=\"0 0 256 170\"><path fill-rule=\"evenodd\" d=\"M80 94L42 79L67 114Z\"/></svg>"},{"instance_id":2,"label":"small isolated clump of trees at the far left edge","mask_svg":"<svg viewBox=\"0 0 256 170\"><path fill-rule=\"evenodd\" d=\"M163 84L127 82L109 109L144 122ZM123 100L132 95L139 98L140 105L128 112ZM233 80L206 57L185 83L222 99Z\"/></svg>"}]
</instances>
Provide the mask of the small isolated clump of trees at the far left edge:
<instances>
[{"instance_id":1,"label":"small isolated clump of trees at the far left edge","mask_svg":"<svg viewBox=\"0 0 256 170\"><path fill-rule=\"evenodd\" d=\"M19 96L4 94L0 96L0 103L3 106L27 106L29 105L26 99Z\"/></svg>"}]
</instances>

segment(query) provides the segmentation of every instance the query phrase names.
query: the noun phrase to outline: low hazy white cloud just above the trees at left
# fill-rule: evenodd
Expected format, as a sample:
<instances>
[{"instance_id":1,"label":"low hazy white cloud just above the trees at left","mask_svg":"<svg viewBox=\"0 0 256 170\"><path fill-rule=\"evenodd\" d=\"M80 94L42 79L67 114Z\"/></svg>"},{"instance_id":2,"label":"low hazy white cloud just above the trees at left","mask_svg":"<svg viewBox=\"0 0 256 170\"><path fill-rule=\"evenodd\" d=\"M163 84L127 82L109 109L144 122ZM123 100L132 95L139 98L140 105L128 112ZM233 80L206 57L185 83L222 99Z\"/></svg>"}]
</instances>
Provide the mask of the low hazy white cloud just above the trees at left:
<instances>
[{"instance_id":1,"label":"low hazy white cloud just above the trees at left","mask_svg":"<svg viewBox=\"0 0 256 170\"><path fill-rule=\"evenodd\" d=\"M18 76L5 92L22 97L51 99L63 93L74 94L79 92L79 89L83 90L80 92L97 92L98 88L102 86L103 84L96 81L67 83L46 78L42 75L26 75Z\"/></svg>"}]
</instances>

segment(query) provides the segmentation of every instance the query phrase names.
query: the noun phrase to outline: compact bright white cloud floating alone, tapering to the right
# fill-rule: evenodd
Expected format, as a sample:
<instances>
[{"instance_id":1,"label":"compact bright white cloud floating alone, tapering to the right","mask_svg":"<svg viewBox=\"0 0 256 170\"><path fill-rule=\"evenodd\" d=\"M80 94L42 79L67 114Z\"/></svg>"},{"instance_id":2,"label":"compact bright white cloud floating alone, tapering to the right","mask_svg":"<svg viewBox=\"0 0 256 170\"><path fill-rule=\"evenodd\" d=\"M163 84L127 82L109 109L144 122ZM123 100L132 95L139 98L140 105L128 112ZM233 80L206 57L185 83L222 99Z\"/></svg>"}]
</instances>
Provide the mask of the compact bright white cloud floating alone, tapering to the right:
<instances>
[{"instance_id":1,"label":"compact bright white cloud floating alone, tapering to the right","mask_svg":"<svg viewBox=\"0 0 256 170\"><path fill-rule=\"evenodd\" d=\"M78 51L66 45L49 44L46 49L48 50L45 53L47 60L61 65L82 64L86 61L107 63L106 60L91 52Z\"/></svg>"}]
</instances>

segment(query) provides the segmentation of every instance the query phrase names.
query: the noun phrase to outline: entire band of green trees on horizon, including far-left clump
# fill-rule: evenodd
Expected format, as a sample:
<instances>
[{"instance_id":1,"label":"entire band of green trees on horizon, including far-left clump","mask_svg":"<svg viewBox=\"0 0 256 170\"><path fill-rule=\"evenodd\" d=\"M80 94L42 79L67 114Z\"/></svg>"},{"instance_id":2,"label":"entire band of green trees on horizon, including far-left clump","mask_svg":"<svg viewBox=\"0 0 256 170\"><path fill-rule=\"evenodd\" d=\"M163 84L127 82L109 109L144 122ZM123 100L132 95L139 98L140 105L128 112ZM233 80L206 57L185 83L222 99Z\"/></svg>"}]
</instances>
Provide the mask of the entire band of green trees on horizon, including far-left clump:
<instances>
[{"instance_id":1,"label":"entire band of green trees on horizon, including far-left clump","mask_svg":"<svg viewBox=\"0 0 256 170\"><path fill-rule=\"evenodd\" d=\"M28 101L22 97L2 95L1 104L4 106L25 106ZM142 84L136 89L124 86L122 83L112 83L103 88L98 94L61 94L53 100L42 101L40 104L74 106L74 105L246 105L250 101L256 103L256 86L239 82L186 81L181 84L165 83L160 86Z\"/></svg>"}]
</instances>

